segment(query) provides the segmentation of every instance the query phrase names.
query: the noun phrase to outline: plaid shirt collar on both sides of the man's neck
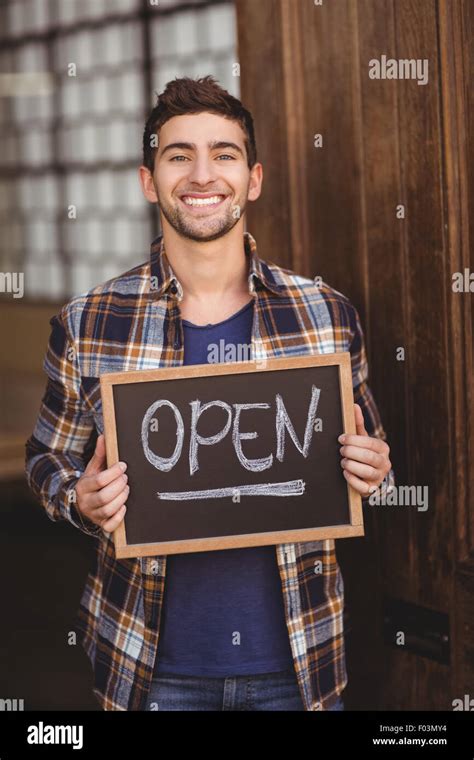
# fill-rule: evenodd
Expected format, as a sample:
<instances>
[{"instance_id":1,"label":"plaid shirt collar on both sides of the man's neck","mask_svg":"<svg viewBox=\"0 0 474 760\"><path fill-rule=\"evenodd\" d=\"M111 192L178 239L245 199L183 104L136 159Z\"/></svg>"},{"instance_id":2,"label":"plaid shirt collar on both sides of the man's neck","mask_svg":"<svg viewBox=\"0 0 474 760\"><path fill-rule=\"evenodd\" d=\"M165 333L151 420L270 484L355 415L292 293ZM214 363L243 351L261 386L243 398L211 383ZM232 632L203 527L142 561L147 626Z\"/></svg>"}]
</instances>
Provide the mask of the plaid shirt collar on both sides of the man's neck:
<instances>
[{"instance_id":1,"label":"plaid shirt collar on both sides of the man's neck","mask_svg":"<svg viewBox=\"0 0 474 760\"><path fill-rule=\"evenodd\" d=\"M277 296L284 295L285 285L277 283L268 264L259 258L257 244L249 232L244 232L244 250L248 263L249 294L253 295L260 283ZM176 277L165 251L163 235L158 235L150 250L150 298L157 300L169 293L180 301L183 288Z\"/></svg>"}]
</instances>

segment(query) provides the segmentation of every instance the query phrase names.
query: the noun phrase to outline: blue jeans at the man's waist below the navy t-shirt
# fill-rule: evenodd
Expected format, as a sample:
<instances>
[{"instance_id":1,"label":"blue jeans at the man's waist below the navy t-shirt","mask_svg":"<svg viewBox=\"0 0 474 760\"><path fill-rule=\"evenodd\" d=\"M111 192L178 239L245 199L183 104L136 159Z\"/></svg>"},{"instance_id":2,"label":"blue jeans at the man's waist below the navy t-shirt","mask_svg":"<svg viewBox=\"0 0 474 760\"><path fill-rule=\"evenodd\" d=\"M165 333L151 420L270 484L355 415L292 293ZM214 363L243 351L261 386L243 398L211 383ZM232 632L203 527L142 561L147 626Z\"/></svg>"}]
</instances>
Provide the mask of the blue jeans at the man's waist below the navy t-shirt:
<instances>
[{"instance_id":1,"label":"blue jeans at the man's waist below the navy t-shirt","mask_svg":"<svg viewBox=\"0 0 474 760\"><path fill-rule=\"evenodd\" d=\"M304 710L294 669L255 676L161 675L147 710ZM344 710L342 698L331 710Z\"/></svg>"}]
</instances>

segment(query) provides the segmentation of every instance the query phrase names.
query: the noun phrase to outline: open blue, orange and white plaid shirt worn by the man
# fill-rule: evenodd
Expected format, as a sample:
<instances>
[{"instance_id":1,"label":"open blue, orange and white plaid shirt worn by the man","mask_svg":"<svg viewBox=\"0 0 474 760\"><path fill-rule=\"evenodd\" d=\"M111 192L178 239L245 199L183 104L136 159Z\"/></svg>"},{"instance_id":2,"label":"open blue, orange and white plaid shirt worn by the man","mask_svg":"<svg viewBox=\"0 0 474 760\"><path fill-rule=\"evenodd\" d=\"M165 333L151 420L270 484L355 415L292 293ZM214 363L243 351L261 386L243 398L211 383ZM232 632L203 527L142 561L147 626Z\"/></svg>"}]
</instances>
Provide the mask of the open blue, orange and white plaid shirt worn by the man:
<instances>
[{"instance_id":1,"label":"open blue, orange and white plaid shirt worn by the man","mask_svg":"<svg viewBox=\"0 0 474 760\"><path fill-rule=\"evenodd\" d=\"M369 435L385 439L367 385L364 337L356 309L324 282L265 262L244 233L249 294L255 299L252 358L350 351L354 399ZM74 485L103 432L104 372L183 364L183 290L161 236L150 260L85 295L51 319L45 395L26 444L30 488L51 520L69 520L96 542L76 620L104 710L144 710L157 651L166 556L115 558L109 533L81 519ZM394 482L390 471L381 485ZM331 707L347 684L344 585L334 540L275 546L294 667L306 710ZM322 567L315 573L314 568Z\"/></svg>"}]
</instances>

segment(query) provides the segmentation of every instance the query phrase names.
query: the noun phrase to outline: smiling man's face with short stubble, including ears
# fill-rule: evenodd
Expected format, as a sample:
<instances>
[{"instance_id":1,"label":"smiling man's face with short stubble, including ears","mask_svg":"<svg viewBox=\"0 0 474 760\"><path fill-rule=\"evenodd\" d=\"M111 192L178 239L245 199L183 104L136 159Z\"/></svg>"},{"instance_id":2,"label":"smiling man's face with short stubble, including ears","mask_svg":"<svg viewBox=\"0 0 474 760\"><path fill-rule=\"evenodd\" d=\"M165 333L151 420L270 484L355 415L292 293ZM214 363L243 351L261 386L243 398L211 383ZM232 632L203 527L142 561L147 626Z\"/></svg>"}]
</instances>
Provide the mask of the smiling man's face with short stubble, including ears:
<instances>
[{"instance_id":1,"label":"smiling man's face with short stubble, including ears","mask_svg":"<svg viewBox=\"0 0 474 760\"><path fill-rule=\"evenodd\" d=\"M249 170L244 139L237 122L212 113L174 116L161 128L154 191L164 219L183 237L222 237L260 195L261 165Z\"/></svg>"}]
</instances>

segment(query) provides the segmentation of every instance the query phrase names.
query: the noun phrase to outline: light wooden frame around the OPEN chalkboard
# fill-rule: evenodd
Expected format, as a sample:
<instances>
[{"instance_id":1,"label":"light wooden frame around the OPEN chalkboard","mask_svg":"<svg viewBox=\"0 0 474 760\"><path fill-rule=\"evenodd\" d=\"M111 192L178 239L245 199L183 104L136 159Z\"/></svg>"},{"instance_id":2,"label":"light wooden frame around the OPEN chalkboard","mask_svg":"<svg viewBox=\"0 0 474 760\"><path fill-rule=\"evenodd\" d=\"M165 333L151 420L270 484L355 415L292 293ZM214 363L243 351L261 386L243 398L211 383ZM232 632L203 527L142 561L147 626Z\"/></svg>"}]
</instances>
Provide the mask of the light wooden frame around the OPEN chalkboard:
<instances>
[{"instance_id":1,"label":"light wooden frame around the OPEN chalkboard","mask_svg":"<svg viewBox=\"0 0 474 760\"><path fill-rule=\"evenodd\" d=\"M339 368L339 388L341 416L344 433L353 434L355 430L354 396L352 387L352 370L349 352L333 354L316 354L290 358L252 360L243 362L224 362L215 364L194 364L178 367L166 367L151 370L133 370L129 372L111 372L101 376L100 387L104 415L107 466L120 461L113 388L125 383L147 383L159 380L180 380L193 377L211 377L237 373L268 372L293 368L337 366ZM265 546L288 542L318 541L324 539L349 538L364 535L362 500L360 494L347 484L348 524L303 528L297 530L269 531L268 533L247 533L234 536L212 536L208 538L183 539L179 541L161 541L146 544L127 543L125 522L114 531L115 553L118 559L127 557L146 557L164 554L209 551L213 549L235 549L249 546ZM126 518L125 518L126 520Z\"/></svg>"}]
</instances>

